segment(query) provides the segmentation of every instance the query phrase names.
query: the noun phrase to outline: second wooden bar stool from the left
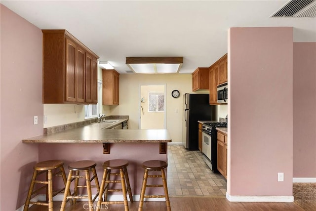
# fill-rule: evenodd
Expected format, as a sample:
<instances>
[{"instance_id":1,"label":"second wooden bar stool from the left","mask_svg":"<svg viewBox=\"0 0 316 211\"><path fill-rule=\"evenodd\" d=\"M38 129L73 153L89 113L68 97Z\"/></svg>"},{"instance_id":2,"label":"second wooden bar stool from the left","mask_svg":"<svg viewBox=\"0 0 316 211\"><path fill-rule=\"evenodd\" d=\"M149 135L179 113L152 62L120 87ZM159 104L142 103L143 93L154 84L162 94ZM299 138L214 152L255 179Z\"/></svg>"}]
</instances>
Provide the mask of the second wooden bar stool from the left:
<instances>
[{"instance_id":1,"label":"second wooden bar stool from the left","mask_svg":"<svg viewBox=\"0 0 316 211\"><path fill-rule=\"evenodd\" d=\"M88 199L89 203L89 211L93 211L93 202L98 197L100 193L100 186L98 181L97 172L95 170L96 163L93 161L77 161L69 164L69 174L67 177L67 183L66 183L66 190L64 194L64 199L61 204L60 211L64 211L66 203L69 199L74 200L74 204L76 204L77 199ZM84 175L80 175L80 172L84 172ZM90 177L90 171L92 171L93 176ZM73 175L75 174L75 175ZM86 185L79 185L79 178L84 178ZM70 190L70 184L72 181L75 180L75 188L74 193L72 195L68 194L68 191ZM94 180L95 185L91 185L91 182ZM78 188L86 188L88 196L79 196L78 195ZM97 189L97 194L92 199L92 192L91 188Z\"/></svg>"}]
</instances>

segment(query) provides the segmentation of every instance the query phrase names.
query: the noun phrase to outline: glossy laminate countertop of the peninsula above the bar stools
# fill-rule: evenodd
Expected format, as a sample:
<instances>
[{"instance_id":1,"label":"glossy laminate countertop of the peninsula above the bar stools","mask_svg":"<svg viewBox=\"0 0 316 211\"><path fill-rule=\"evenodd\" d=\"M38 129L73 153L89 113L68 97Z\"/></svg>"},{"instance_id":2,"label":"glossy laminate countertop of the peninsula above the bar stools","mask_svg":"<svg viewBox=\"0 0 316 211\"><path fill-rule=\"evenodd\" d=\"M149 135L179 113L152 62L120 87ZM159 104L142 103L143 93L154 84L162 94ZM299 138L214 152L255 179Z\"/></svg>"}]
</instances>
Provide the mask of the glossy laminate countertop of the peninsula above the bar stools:
<instances>
[{"instance_id":1,"label":"glossy laminate countertop of the peninsula above the bar stools","mask_svg":"<svg viewBox=\"0 0 316 211\"><path fill-rule=\"evenodd\" d=\"M166 129L104 129L106 123L43 134L23 139L23 143L163 143L171 142Z\"/></svg>"}]
</instances>

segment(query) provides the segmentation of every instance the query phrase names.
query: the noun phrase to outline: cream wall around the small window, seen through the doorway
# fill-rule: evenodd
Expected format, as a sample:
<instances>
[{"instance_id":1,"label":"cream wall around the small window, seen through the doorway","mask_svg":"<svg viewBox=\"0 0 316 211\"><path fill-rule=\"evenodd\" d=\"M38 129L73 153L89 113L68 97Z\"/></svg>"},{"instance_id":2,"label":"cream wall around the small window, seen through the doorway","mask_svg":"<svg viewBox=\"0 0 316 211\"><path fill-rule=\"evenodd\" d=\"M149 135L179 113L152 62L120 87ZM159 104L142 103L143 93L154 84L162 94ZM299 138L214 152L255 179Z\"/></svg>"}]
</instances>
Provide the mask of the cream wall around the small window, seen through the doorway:
<instances>
[{"instance_id":1,"label":"cream wall around the small window, seen through the doorway","mask_svg":"<svg viewBox=\"0 0 316 211\"><path fill-rule=\"evenodd\" d=\"M164 129L164 112L149 112L148 95L150 92L159 92L164 94L164 85L141 85L140 99L144 99L140 103L142 110L141 129Z\"/></svg>"}]
</instances>

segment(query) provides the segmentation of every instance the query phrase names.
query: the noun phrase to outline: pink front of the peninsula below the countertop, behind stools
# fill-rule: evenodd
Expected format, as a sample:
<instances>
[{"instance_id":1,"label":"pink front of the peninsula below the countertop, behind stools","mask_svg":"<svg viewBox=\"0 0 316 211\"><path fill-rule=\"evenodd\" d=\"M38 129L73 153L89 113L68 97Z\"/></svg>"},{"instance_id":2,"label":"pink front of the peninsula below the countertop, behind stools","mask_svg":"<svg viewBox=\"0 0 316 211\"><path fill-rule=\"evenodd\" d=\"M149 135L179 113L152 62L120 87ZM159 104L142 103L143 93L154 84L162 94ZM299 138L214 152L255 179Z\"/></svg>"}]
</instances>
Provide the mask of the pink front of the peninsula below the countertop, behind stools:
<instances>
[{"instance_id":1,"label":"pink front of the peninsula below the countertop, behind stools","mask_svg":"<svg viewBox=\"0 0 316 211\"><path fill-rule=\"evenodd\" d=\"M167 154L159 154L159 143L117 143L111 144L110 154L103 154L102 143L45 143L39 147L39 161L61 159L65 162L64 168L71 162L79 160L93 160L96 162L98 179L101 183L103 162L111 159L126 159L129 181L133 195L141 191L144 169L142 163L147 160L167 161ZM166 171L167 172L167 171ZM166 173L167 175L167 173ZM112 178L113 179L113 178ZM148 180L152 182L153 179ZM161 183L161 178L157 183ZM61 182L59 184L62 184ZM147 190L151 191L151 190ZM146 193L147 193L146 191ZM163 189L154 190L155 194L162 194ZM158 191L161 191L160 193ZM150 192L148 192L150 193ZM139 200L135 199L135 200Z\"/></svg>"}]
</instances>

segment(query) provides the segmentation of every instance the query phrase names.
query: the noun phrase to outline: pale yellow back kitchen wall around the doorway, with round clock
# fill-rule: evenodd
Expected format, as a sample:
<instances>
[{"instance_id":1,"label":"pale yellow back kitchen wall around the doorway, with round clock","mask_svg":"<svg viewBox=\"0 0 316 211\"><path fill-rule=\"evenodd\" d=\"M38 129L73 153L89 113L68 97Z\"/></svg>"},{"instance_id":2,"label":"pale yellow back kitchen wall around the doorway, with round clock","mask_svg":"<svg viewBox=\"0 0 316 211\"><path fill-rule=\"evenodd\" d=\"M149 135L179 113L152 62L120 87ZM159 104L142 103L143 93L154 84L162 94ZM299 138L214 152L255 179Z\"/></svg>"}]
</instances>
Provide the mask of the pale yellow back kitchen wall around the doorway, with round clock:
<instances>
[{"instance_id":1,"label":"pale yellow back kitchen wall around the doorway, with round clock","mask_svg":"<svg viewBox=\"0 0 316 211\"><path fill-rule=\"evenodd\" d=\"M119 105L110 106L110 114L129 115L129 128L138 129L140 100L140 85L166 84L166 129L173 142L182 140L182 96L192 93L191 74L121 74L119 75ZM180 91L179 98L173 98L171 91ZM105 106L103 106L105 107Z\"/></svg>"}]
</instances>

